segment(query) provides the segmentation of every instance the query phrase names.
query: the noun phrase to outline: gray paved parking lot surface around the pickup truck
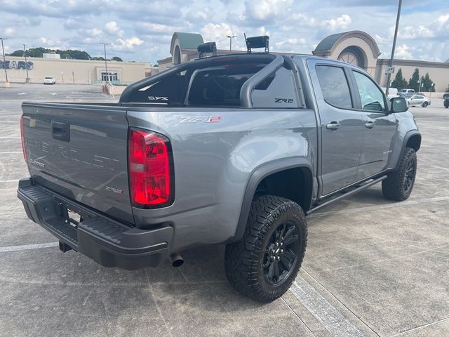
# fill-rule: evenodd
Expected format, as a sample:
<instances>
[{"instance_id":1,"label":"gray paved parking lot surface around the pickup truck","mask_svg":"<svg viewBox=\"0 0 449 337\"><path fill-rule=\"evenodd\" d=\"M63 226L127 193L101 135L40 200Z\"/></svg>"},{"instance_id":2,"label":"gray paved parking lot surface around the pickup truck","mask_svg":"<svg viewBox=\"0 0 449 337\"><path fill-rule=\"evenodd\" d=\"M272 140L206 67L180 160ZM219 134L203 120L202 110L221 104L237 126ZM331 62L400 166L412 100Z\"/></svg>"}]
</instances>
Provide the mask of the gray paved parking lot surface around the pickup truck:
<instances>
[{"instance_id":1,"label":"gray paved parking lot surface around the pickup truck","mask_svg":"<svg viewBox=\"0 0 449 337\"><path fill-rule=\"evenodd\" d=\"M422 131L415 189L387 201L380 185L313 213L290 291L268 305L227 283L224 246L185 264L100 267L28 220L23 100L113 102L100 86L0 88L0 336L449 336L449 110L413 107ZM116 99L115 99L116 100Z\"/></svg>"}]
</instances>

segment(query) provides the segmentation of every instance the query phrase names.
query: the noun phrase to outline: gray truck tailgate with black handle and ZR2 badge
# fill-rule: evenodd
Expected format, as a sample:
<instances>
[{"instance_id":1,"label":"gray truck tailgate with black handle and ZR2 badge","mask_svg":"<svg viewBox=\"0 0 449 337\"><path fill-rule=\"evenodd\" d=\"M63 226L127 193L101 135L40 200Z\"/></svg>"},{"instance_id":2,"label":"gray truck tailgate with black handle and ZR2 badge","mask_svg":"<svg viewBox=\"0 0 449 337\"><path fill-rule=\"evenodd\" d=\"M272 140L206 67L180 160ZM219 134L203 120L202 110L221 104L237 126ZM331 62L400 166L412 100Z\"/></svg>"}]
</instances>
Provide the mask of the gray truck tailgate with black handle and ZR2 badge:
<instances>
[{"instance_id":1,"label":"gray truck tailgate with black handle and ZR2 badge","mask_svg":"<svg viewBox=\"0 0 449 337\"><path fill-rule=\"evenodd\" d=\"M118 105L23 103L29 173L38 185L133 224L126 110Z\"/></svg>"}]
</instances>

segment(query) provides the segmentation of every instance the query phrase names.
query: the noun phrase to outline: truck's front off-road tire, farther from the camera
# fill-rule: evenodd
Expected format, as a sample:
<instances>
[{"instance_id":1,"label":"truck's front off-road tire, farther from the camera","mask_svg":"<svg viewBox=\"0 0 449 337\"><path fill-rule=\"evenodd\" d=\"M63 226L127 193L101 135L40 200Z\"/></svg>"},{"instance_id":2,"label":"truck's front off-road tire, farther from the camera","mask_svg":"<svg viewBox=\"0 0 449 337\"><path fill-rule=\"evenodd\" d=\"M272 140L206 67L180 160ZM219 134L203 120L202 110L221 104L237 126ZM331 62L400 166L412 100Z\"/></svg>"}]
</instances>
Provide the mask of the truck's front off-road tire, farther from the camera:
<instances>
[{"instance_id":1,"label":"truck's front off-road tire, farther from the camera","mask_svg":"<svg viewBox=\"0 0 449 337\"><path fill-rule=\"evenodd\" d=\"M417 166L415 150L406 147L400 160L398 169L389 173L387 179L382 180L384 197L395 201L406 200L413 190ZM412 170L410 171L410 169ZM411 178L408 176L409 174L411 174Z\"/></svg>"}]
</instances>

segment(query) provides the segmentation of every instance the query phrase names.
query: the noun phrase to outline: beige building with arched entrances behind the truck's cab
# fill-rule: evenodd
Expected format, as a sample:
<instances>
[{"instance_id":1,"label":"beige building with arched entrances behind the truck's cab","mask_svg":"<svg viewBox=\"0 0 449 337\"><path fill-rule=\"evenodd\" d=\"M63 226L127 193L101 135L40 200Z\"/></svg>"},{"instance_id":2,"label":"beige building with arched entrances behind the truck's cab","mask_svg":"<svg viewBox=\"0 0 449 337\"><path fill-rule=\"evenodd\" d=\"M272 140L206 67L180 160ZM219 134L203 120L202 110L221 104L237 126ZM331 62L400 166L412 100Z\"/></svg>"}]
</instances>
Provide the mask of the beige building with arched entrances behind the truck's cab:
<instances>
[{"instance_id":1,"label":"beige building with arched entrances behind the truck's cab","mask_svg":"<svg viewBox=\"0 0 449 337\"><path fill-rule=\"evenodd\" d=\"M201 34L175 32L170 44L171 57L158 61L159 70L165 70L180 62L198 58L199 53L196 51L196 46L203 43ZM217 50L217 55L228 53L245 53L245 51ZM389 60L380 58L381 53L375 39L366 32L354 30L330 35L323 39L311 53L357 65L369 72L380 86L387 86L386 72ZM283 54L285 55L285 53ZM394 60L393 66L395 72L391 75L391 80L401 68L403 77L408 81L415 69L418 68L420 76L429 73L429 77L435 83L435 91L443 92L449 86L449 59L446 62Z\"/></svg>"}]
</instances>

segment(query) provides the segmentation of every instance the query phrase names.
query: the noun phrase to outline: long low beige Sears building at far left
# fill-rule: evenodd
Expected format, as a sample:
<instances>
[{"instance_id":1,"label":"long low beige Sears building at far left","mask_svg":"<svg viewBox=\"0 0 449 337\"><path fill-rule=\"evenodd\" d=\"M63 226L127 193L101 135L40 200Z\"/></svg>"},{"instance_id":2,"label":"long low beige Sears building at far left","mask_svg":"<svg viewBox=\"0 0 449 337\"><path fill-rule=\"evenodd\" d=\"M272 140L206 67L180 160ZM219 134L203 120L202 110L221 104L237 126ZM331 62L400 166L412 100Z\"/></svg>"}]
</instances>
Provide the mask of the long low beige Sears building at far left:
<instances>
[{"instance_id":1,"label":"long low beige Sears building at far left","mask_svg":"<svg viewBox=\"0 0 449 337\"><path fill-rule=\"evenodd\" d=\"M144 62L116 62L94 60L67 60L58 58L25 58L6 56L0 60L0 81L5 71L11 83L25 83L27 72L30 83L43 83L45 77L54 77L57 84L100 84L109 76L114 84L130 84L145 78L152 68Z\"/></svg>"}]
</instances>

